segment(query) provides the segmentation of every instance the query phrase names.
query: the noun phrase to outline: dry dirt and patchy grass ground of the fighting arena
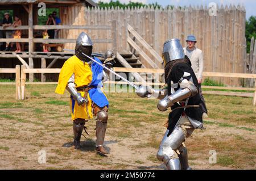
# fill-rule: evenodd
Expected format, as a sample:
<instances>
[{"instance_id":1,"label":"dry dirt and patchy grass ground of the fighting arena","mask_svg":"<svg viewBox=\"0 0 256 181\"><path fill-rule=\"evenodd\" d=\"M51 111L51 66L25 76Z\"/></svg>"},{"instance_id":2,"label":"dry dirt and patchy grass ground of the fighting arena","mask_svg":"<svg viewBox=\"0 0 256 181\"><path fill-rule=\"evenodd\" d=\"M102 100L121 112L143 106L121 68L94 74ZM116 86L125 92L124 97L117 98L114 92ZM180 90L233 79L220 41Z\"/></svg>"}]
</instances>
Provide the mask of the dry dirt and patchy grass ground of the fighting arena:
<instances>
[{"instance_id":1,"label":"dry dirt and patchy grass ground of the fighting arena","mask_svg":"<svg viewBox=\"0 0 256 181\"><path fill-rule=\"evenodd\" d=\"M110 100L105 146L108 157L96 154L96 121L86 123L89 136L82 149L72 142L69 95L55 85L27 86L27 99L15 100L14 86L0 86L0 169L166 169L156 152L166 131L168 111L156 99L134 93L107 93ZM252 98L205 95L209 118L185 143L192 169L255 169L256 107ZM46 163L39 163L39 151ZM209 163L216 150L217 163Z\"/></svg>"}]
</instances>

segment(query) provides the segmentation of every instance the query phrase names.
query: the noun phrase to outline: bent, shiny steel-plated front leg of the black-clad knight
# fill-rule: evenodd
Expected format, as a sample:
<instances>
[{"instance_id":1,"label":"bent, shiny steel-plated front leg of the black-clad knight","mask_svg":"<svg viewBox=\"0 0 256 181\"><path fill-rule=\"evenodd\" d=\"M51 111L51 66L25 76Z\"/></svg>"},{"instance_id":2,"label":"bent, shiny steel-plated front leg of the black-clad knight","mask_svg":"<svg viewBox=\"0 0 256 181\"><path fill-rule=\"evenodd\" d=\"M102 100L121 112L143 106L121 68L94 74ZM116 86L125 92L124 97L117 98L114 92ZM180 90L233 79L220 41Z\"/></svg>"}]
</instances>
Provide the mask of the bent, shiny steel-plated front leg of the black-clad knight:
<instances>
[{"instance_id":1,"label":"bent, shiny steel-plated front leg of the black-clad knight","mask_svg":"<svg viewBox=\"0 0 256 181\"><path fill-rule=\"evenodd\" d=\"M159 161L164 162L167 169L180 170L181 165L176 150L185 140L185 134L180 127L176 127L170 136L167 137L168 132L167 130L164 134L156 157Z\"/></svg>"}]
</instances>

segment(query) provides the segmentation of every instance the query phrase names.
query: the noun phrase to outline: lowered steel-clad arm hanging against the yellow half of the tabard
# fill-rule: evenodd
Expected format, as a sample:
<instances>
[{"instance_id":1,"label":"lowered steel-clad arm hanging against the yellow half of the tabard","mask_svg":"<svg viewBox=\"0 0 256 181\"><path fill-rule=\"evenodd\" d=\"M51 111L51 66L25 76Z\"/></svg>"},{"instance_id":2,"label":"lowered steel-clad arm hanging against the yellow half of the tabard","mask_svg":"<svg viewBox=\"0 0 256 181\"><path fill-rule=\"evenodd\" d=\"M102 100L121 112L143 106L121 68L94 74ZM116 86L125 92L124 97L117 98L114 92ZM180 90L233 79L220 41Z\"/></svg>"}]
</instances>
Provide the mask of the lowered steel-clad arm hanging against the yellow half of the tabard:
<instances>
[{"instance_id":1,"label":"lowered steel-clad arm hanging against the yellow half of the tabard","mask_svg":"<svg viewBox=\"0 0 256 181\"><path fill-rule=\"evenodd\" d=\"M73 96L73 98L77 101L77 104L79 104L79 106L83 105L84 103L86 103L86 99L84 97L82 97L82 95L80 94L80 92L78 92L76 90L76 86L75 86L75 74L72 74L72 76L69 78L68 80L68 85L66 87L66 89L69 91L69 93Z\"/></svg>"}]
</instances>

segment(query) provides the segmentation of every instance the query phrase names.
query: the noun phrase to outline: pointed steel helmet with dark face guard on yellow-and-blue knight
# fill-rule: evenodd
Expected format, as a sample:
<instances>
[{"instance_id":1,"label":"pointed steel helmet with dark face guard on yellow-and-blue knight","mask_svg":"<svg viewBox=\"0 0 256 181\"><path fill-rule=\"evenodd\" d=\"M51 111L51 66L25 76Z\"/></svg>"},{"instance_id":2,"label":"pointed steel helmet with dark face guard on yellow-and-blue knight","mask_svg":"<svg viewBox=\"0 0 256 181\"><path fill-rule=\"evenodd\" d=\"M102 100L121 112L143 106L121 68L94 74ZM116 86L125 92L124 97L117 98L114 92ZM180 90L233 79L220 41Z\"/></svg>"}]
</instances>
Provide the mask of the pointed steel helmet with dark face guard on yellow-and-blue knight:
<instances>
[{"instance_id":1,"label":"pointed steel helmet with dark face guard on yellow-and-blue knight","mask_svg":"<svg viewBox=\"0 0 256 181\"><path fill-rule=\"evenodd\" d=\"M76 47L75 47L76 56L84 62L89 62L90 59L84 56L84 54L88 55L89 57L92 56L92 49L93 49L92 40L85 32L81 32L79 37L77 37L77 40L76 40Z\"/></svg>"}]
</instances>

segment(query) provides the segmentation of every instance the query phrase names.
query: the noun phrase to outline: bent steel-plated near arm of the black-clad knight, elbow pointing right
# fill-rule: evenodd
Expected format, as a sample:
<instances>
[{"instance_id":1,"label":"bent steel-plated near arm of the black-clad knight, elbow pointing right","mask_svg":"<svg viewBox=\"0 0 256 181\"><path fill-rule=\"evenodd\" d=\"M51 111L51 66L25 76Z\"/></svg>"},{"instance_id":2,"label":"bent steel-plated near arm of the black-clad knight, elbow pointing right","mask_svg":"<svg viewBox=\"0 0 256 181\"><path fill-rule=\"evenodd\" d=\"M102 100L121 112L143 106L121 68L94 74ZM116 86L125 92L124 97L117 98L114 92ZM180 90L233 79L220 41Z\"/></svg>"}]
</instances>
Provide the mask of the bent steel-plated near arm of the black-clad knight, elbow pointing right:
<instances>
[{"instance_id":1,"label":"bent steel-plated near arm of the black-clad knight, elbow pointing right","mask_svg":"<svg viewBox=\"0 0 256 181\"><path fill-rule=\"evenodd\" d=\"M168 107L173 106L174 103L187 99L191 96L196 95L198 92L197 87L193 84L193 82L184 79L180 83L180 89L175 91L174 94L166 96L162 100L158 102L158 110L166 111Z\"/></svg>"}]
</instances>

